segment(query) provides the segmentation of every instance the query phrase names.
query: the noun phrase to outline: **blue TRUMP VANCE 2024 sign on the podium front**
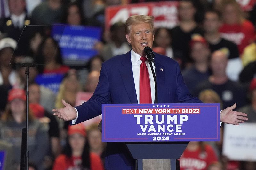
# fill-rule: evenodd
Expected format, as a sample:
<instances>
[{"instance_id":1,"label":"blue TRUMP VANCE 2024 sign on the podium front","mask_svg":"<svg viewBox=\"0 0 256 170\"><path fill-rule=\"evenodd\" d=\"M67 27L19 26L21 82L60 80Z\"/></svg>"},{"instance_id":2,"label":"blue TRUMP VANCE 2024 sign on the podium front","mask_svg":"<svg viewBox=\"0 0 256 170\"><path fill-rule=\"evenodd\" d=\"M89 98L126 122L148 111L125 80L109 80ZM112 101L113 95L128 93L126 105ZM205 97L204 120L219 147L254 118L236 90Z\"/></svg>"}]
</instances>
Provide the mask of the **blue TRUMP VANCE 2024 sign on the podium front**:
<instances>
[{"instance_id":1,"label":"blue TRUMP VANCE 2024 sign on the podium front","mask_svg":"<svg viewBox=\"0 0 256 170\"><path fill-rule=\"evenodd\" d=\"M219 103L102 105L103 142L219 140Z\"/></svg>"}]
</instances>

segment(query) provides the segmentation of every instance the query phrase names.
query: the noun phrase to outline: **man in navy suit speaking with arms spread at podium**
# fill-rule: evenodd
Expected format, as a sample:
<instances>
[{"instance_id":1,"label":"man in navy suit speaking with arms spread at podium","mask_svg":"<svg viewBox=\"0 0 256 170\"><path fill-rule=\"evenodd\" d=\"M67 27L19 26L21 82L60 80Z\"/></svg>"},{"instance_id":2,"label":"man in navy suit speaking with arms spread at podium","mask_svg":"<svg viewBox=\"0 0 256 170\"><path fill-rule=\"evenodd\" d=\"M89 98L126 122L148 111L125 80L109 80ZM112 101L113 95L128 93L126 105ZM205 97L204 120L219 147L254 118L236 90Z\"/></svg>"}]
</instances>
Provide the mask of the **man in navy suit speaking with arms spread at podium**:
<instances>
[{"instance_id":1,"label":"man in navy suit speaking with arms spread at podium","mask_svg":"<svg viewBox=\"0 0 256 170\"><path fill-rule=\"evenodd\" d=\"M152 48L154 40L152 16L132 16L127 19L125 33L132 50L126 54L115 56L102 63L97 88L90 100L81 106L72 107L64 100L61 109L53 109L54 115L64 121L72 120L77 124L101 114L104 103L140 103L140 58L145 56L144 48ZM164 55L155 54L155 72L157 81L158 103L201 103L193 97L185 83L176 61ZM155 99L155 84L148 61L151 101ZM143 87L142 87L143 88ZM247 116L232 111L236 105L221 112L220 120L225 123L243 123ZM106 169L134 170L134 159L130 156L123 143L107 143L105 158Z\"/></svg>"}]
</instances>

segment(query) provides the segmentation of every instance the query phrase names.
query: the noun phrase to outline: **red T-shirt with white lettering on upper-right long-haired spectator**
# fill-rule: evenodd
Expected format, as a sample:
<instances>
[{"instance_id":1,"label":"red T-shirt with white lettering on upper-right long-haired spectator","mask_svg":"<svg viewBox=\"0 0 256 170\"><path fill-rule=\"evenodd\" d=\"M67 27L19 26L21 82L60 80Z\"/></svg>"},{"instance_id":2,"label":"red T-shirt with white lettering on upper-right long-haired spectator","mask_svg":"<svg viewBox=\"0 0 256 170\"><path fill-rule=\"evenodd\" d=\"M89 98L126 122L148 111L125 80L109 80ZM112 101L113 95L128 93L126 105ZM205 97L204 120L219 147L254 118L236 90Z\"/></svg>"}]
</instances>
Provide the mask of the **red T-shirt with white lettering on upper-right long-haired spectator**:
<instances>
[{"instance_id":1,"label":"red T-shirt with white lettering on upper-right long-haired spectator","mask_svg":"<svg viewBox=\"0 0 256 170\"><path fill-rule=\"evenodd\" d=\"M224 23L220 27L220 33L223 38L234 42L238 46L240 54L255 38L254 26L248 20L244 20L242 24L229 25Z\"/></svg>"}]
</instances>

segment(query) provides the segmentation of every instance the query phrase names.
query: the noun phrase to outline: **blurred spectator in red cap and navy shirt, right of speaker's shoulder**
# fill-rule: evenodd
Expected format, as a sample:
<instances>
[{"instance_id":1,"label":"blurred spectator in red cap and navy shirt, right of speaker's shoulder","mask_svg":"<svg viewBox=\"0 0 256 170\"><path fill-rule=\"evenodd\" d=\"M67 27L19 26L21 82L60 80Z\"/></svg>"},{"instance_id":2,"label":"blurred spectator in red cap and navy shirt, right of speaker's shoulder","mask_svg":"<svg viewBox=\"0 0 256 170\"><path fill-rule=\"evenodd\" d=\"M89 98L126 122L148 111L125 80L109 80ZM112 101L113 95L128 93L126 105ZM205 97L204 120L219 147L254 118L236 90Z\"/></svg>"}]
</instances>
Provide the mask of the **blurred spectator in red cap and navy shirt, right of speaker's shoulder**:
<instances>
[{"instance_id":1,"label":"blurred spectator in red cap and navy shirt, right of speaker's shoulder","mask_svg":"<svg viewBox=\"0 0 256 170\"><path fill-rule=\"evenodd\" d=\"M184 82L192 94L195 94L197 83L209 78L209 58L210 49L206 40L200 36L193 36L190 41L190 56L193 60L193 65L186 68L182 75Z\"/></svg>"}]
</instances>

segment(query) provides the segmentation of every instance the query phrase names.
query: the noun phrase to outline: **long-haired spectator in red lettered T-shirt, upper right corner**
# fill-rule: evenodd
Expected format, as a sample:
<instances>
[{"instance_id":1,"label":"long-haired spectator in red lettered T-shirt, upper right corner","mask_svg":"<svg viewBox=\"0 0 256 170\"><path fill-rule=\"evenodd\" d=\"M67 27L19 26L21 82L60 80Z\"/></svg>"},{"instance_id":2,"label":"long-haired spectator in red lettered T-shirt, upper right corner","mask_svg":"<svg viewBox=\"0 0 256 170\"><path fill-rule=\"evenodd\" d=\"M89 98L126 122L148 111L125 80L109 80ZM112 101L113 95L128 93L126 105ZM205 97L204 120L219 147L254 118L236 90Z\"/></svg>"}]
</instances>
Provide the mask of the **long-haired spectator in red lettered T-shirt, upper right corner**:
<instances>
[{"instance_id":1,"label":"long-haired spectator in red lettered T-shirt, upper right corner","mask_svg":"<svg viewBox=\"0 0 256 170\"><path fill-rule=\"evenodd\" d=\"M234 42L238 46L239 54L242 54L244 48L254 40L253 24L244 18L236 0L222 0L220 10L223 18L223 25L220 27L221 36Z\"/></svg>"}]
</instances>

